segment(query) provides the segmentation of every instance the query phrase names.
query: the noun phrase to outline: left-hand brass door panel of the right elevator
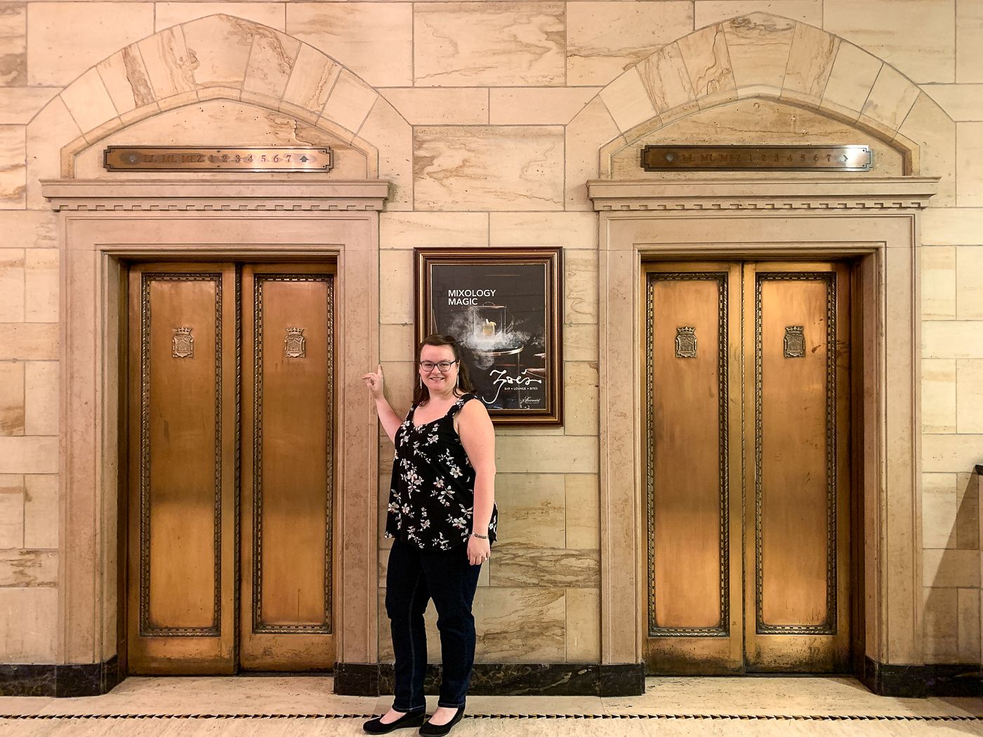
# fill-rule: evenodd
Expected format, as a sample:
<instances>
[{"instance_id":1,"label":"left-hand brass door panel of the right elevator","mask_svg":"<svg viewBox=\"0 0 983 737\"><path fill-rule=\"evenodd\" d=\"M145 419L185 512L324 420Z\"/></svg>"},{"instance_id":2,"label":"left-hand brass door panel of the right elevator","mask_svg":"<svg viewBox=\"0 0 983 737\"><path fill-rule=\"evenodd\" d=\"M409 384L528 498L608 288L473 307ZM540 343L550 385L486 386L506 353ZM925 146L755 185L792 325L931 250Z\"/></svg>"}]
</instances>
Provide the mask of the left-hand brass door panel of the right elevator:
<instances>
[{"instance_id":1,"label":"left-hand brass door panel of the right elevator","mask_svg":"<svg viewBox=\"0 0 983 737\"><path fill-rule=\"evenodd\" d=\"M730 384L740 369L728 335L739 323L726 310L739 286L728 264L649 274L648 633L660 645L647 654L661 672L740 668L740 607L731 606L740 591L740 548L731 549L740 507L731 508L728 452Z\"/></svg>"}]
</instances>

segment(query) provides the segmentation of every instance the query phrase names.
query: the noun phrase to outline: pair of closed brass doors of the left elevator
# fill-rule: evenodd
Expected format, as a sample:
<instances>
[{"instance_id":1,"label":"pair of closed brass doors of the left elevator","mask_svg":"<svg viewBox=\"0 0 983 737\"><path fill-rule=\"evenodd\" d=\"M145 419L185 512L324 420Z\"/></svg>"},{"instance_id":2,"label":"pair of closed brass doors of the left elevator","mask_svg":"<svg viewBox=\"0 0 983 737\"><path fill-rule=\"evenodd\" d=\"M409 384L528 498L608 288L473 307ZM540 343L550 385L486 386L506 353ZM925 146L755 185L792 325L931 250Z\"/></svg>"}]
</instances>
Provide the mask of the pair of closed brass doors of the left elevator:
<instances>
[{"instance_id":1,"label":"pair of closed brass doors of the left elevator","mask_svg":"<svg viewBox=\"0 0 983 737\"><path fill-rule=\"evenodd\" d=\"M131 267L129 672L333 666L333 271Z\"/></svg>"}]
</instances>

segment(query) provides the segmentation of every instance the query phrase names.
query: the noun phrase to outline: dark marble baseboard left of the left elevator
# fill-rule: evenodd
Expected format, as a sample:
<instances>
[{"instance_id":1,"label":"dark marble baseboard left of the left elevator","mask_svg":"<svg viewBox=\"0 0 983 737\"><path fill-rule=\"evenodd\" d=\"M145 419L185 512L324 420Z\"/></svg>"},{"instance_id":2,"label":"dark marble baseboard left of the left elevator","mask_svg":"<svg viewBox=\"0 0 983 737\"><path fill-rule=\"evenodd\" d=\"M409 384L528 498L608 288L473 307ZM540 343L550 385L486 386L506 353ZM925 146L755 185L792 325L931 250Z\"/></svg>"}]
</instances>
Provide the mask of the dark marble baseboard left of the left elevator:
<instances>
[{"instance_id":1,"label":"dark marble baseboard left of the left elevator","mask_svg":"<svg viewBox=\"0 0 983 737\"><path fill-rule=\"evenodd\" d=\"M116 655L101 663L0 664L0 696L99 696L121 680Z\"/></svg>"}]
</instances>

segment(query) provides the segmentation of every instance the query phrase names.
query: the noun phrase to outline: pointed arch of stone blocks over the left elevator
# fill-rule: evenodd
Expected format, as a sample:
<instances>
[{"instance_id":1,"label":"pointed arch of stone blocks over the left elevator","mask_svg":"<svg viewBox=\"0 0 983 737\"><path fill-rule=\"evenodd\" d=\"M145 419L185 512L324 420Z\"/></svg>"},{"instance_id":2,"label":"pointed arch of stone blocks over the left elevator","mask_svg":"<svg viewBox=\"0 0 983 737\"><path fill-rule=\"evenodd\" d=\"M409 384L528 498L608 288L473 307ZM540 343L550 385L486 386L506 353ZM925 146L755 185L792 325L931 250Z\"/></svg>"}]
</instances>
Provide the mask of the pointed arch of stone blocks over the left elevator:
<instances>
[{"instance_id":1,"label":"pointed arch of stone blocks over the left elevator","mask_svg":"<svg viewBox=\"0 0 983 737\"><path fill-rule=\"evenodd\" d=\"M350 145L366 157L368 178L393 182L390 206L409 206L408 196L397 194L400 180L408 184L411 176L408 165L400 166L412 159L411 129L402 116L372 85L310 44L225 14L159 30L63 89L29 124L29 159L36 162L30 179L73 178L76 157L97 142L211 100L282 113Z\"/></svg>"}]
</instances>

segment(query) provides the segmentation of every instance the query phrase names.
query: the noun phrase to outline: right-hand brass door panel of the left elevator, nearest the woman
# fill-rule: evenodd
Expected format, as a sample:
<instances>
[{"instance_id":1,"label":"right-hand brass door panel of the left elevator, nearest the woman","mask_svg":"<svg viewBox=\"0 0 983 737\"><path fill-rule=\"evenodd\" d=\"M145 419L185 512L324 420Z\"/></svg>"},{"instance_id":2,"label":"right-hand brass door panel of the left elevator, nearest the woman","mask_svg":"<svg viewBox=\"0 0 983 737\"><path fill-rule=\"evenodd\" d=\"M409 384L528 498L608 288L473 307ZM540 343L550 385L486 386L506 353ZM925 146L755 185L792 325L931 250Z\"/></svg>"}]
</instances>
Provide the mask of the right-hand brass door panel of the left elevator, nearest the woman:
<instances>
[{"instance_id":1,"label":"right-hand brass door panel of the left elevator, nearest the woman","mask_svg":"<svg viewBox=\"0 0 983 737\"><path fill-rule=\"evenodd\" d=\"M334 665L334 282L323 271L243 268L245 669Z\"/></svg>"}]
</instances>

